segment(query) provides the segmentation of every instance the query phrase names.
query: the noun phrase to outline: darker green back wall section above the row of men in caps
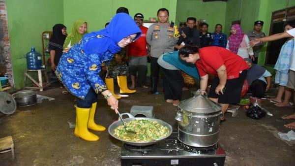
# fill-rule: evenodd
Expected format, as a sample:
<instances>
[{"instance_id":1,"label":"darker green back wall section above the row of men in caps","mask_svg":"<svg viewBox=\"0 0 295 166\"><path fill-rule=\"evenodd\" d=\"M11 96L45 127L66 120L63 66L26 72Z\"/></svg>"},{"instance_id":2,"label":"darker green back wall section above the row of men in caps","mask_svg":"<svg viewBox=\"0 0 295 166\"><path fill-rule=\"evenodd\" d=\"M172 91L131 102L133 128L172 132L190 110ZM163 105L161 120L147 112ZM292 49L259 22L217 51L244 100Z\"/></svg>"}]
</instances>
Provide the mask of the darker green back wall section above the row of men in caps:
<instances>
[{"instance_id":1,"label":"darker green back wall section above the row of men in caps","mask_svg":"<svg viewBox=\"0 0 295 166\"><path fill-rule=\"evenodd\" d=\"M226 6L224 1L203 2L203 0L177 0L177 25L186 22L187 17L195 17L197 20L206 19L209 24L209 32L214 32L215 25L225 25ZM225 31L225 29L223 30Z\"/></svg>"}]
</instances>

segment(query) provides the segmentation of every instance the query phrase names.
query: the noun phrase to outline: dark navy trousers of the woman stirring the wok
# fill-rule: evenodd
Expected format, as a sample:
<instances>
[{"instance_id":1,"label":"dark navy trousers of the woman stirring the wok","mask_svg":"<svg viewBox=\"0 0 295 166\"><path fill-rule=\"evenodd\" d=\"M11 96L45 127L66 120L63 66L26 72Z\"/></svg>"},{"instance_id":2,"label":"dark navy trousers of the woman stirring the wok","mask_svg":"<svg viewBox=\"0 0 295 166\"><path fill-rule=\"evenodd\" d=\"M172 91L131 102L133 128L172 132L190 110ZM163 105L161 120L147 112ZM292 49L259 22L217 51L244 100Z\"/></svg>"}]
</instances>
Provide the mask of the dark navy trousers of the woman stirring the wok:
<instances>
[{"instance_id":1,"label":"dark navy trousers of the woman stirring the wok","mask_svg":"<svg viewBox=\"0 0 295 166\"><path fill-rule=\"evenodd\" d=\"M79 108L90 108L92 103L97 102L97 94L90 88L85 99L77 98L77 107Z\"/></svg>"}]
</instances>

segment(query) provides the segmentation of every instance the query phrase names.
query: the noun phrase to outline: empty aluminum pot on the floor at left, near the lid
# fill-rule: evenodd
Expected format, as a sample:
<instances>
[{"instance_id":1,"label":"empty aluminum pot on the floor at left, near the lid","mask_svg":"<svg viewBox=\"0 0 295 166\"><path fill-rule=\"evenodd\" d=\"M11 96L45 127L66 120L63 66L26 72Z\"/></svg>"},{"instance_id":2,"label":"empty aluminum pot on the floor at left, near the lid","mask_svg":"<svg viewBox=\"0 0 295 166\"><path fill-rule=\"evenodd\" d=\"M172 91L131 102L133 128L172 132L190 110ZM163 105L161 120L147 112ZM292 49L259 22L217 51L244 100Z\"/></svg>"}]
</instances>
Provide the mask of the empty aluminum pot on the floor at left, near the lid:
<instances>
[{"instance_id":1,"label":"empty aluminum pot on the floor at left, near the lid","mask_svg":"<svg viewBox=\"0 0 295 166\"><path fill-rule=\"evenodd\" d=\"M19 91L12 95L17 106L29 106L37 103L37 93L33 91Z\"/></svg>"}]
</instances>

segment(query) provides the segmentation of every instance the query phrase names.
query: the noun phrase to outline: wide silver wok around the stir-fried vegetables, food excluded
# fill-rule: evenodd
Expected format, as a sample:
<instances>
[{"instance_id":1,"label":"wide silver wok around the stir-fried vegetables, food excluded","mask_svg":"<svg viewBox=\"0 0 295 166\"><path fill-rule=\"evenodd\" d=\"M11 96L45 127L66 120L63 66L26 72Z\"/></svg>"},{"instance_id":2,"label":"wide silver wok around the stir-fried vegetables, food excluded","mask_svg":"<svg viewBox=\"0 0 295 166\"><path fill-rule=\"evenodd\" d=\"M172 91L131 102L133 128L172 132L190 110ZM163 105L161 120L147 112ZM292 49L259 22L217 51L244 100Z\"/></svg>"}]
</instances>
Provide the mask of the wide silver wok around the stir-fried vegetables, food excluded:
<instances>
[{"instance_id":1,"label":"wide silver wok around the stir-fried vegetables, food excluded","mask_svg":"<svg viewBox=\"0 0 295 166\"><path fill-rule=\"evenodd\" d=\"M128 116L129 116L129 118L125 118L125 119L124 119L125 122L130 122L130 121L133 121L133 120L142 120L142 119L145 119L145 120L150 120L150 121L156 121L156 122L158 122L159 124L161 124L161 125L163 125L163 126L166 126L166 127L168 128L168 130L169 130L169 133L168 133L167 136L165 136L165 137L163 137L163 138L160 138L160 139L152 140L152 141L149 141L149 142L131 142L131 141L126 141L126 140L123 140L123 139L118 138L118 137L114 134L114 133L115 133L115 129L116 129L117 127L123 125L123 122L120 121L120 119L118 119L118 121L113 122L113 123L109 126L108 131L109 131L109 133L110 133L114 138L116 138L116 139L118 139L118 140L120 140L120 141L122 141L122 142L124 142L124 143L130 144L130 145L134 145L134 146L147 146L147 145L152 145L152 144L154 144L154 143L156 143L156 142L158 142L158 141L160 141L160 140L162 140L162 139L167 138L167 137L170 136L171 133L172 133L172 127L171 127L171 125L169 125L168 123L166 123L166 122L164 122L164 121L162 121L162 120L160 120L160 119L143 118L143 117L136 117L136 118L135 118L135 117L132 116L130 113L121 113L121 115L128 115Z\"/></svg>"}]
</instances>

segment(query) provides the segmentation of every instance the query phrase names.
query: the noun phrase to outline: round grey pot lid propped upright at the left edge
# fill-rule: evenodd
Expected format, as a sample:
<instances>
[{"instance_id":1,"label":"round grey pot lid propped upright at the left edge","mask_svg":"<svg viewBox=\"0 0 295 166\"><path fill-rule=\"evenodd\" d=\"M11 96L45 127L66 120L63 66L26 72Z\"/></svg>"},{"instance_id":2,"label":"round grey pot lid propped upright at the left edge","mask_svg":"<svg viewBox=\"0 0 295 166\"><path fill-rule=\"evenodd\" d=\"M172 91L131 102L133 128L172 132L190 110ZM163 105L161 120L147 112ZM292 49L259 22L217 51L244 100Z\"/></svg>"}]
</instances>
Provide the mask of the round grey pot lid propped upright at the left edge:
<instances>
[{"instance_id":1,"label":"round grey pot lid propped upright at the left edge","mask_svg":"<svg viewBox=\"0 0 295 166\"><path fill-rule=\"evenodd\" d=\"M16 101L7 92L0 92L0 112L13 114L16 110Z\"/></svg>"}]
</instances>

